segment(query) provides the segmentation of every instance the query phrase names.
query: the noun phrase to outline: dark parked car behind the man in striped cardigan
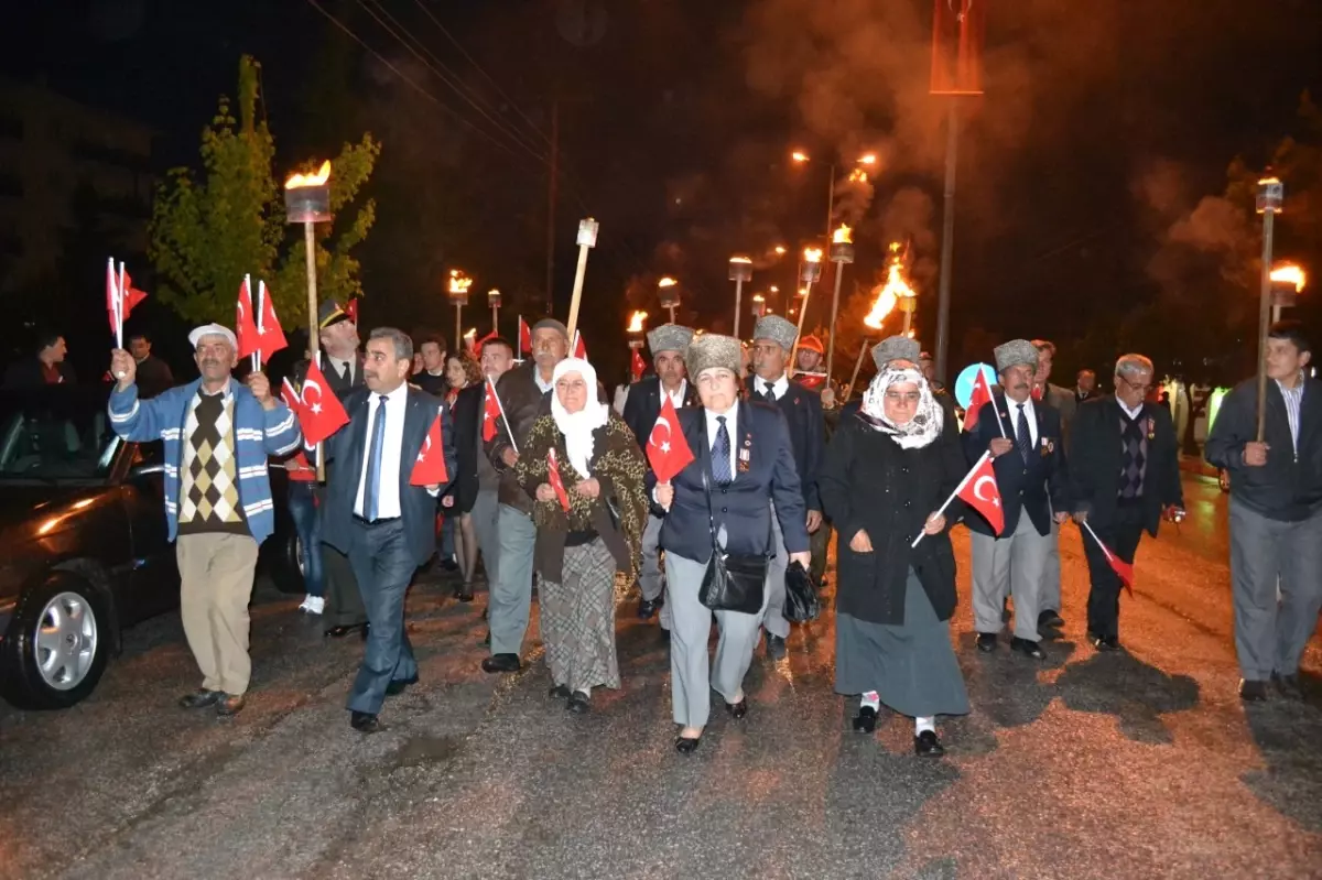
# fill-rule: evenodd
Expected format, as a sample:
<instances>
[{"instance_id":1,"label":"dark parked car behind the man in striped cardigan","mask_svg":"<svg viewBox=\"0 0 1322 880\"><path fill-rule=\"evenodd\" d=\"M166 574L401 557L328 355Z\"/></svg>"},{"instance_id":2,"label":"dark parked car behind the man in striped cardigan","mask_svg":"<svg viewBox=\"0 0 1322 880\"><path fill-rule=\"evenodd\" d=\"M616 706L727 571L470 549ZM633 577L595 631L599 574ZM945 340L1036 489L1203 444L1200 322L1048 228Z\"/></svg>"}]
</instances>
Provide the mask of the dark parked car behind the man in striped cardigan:
<instances>
[{"instance_id":1,"label":"dark parked car behind the man in striped cardigan","mask_svg":"<svg viewBox=\"0 0 1322 880\"><path fill-rule=\"evenodd\" d=\"M97 687L127 626L178 605L161 443L110 428L108 391L0 392L0 695L66 708ZM297 531L271 468L276 529L259 569L303 592Z\"/></svg>"}]
</instances>

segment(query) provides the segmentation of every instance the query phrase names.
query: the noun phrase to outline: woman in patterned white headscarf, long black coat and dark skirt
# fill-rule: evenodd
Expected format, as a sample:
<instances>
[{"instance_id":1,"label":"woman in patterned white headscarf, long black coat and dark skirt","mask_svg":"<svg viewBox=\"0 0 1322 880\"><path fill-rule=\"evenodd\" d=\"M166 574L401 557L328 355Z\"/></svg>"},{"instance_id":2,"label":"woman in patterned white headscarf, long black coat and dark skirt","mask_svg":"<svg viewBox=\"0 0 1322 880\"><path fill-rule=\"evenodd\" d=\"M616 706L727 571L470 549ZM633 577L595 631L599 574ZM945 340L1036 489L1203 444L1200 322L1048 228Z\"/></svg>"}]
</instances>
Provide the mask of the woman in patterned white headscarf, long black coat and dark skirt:
<instances>
[{"instance_id":1,"label":"woman in patterned white headscarf, long black coat and dark skirt","mask_svg":"<svg viewBox=\"0 0 1322 880\"><path fill-rule=\"evenodd\" d=\"M969 698L949 620L958 501L937 514L968 470L941 439L941 404L910 365L888 365L842 419L817 484L839 535L836 691L861 694L854 729L871 733L884 703L915 719L914 751L944 753L937 715L965 715ZM914 539L923 534L917 547Z\"/></svg>"}]
</instances>

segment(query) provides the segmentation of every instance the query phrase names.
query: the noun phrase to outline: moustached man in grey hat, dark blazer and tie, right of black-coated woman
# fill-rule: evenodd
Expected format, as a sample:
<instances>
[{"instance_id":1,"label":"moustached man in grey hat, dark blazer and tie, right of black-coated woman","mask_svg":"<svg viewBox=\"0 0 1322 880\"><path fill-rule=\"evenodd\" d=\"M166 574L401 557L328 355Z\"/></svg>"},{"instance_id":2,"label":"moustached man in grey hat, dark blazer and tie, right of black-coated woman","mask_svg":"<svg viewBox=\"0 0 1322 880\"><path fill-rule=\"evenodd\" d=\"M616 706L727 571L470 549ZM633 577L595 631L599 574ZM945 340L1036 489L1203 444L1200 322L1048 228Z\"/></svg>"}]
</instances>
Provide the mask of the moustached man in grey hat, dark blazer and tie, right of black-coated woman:
<instances>
[{"instance_id":1,"label":"moustached man in grey hat, dark blazer and tie, right of black-coated woman","mask_svg":"<svg viewBox=\"0 0 1322 880\"><path fill-rule=\"evenodd\" d=\"M980 514L965 519L973 543L973 622L978 649L995 650L1006 595L1014 596L1010 649L1042 659L1043 569L1056 543L1052 525L1068 515L1060 414L1032 399L1038 349L1031 342L997 346L995 365L1005 394L982 404L965 436L970 464L992 452L1005 515L1001 536Z\"/></svg>"}]
</instances>

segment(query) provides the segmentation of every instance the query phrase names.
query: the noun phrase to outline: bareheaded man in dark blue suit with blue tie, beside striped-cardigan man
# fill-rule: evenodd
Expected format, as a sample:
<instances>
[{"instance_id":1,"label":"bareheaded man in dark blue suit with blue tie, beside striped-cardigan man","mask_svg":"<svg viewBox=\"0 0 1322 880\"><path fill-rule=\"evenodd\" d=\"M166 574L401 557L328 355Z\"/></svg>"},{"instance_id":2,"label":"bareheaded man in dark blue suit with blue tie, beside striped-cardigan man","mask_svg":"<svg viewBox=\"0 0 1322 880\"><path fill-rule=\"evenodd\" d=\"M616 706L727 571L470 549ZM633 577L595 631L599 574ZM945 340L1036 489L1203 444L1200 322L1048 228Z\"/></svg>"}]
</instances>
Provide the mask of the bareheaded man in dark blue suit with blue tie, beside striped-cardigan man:
<instances>
[{"instance_id":1,"label":"bareheaded man in dark blue suit with blue tie, beside striped-cardigan man","mask_svg":"<svg viewBox=\"0 0 1322 880\"><path fill-rule=\"evenodd\" d=\"M324 535L349 556L368 608L368 649L349 692L349 723L378 729L377 715L389 695L418 680L418 663L405 632L405 595L414 572L436 550L436 497L440 484L410 480L423 455L443 455L453 476L455 432L440 400L408 385L412 340L394 328L377 328L364 358L366 388L345 398L349 424L327 444L336 462L327 485ZM442 449L427 449L427 435L442 416Z\"/></svg>"}]
</instances>

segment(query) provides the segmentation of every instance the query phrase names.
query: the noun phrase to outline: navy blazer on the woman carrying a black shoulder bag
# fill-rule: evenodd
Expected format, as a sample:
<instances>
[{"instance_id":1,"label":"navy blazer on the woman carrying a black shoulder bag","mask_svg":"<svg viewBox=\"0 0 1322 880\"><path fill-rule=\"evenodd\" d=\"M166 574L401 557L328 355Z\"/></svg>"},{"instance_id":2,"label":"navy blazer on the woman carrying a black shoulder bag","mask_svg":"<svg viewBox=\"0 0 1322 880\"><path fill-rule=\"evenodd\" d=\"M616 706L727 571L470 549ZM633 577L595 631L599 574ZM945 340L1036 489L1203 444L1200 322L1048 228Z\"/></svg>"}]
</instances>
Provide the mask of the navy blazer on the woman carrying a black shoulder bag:
<instances>
[{"instance_id":1,"label":"navy blazer on the woman carrying a black shoulder bag","mask_svg":"<svg viewBox=\"0 0 1322 880\"><path fill-rule=\"evenodd\" d=\"M726 527L726 550L740 555L773 555L771 505L785 538L785 550L808 550L808 510L798 485L798 470L789 443L785 418L768 403L740 402L736 429L730 437L735 447L735 478L728 486L711 481L711 440L707 437L707 411L702 407L680 410L680 425L694 460L681 470L674 485L674 503L661 525L661 546L685 559L706 563L711 559L711 526L702 474L711 485L711 511L717 529ZM740 453L748 452L748 461ZM656 476L648 473L648 492Z\"/></svg>"}]
</instances>

